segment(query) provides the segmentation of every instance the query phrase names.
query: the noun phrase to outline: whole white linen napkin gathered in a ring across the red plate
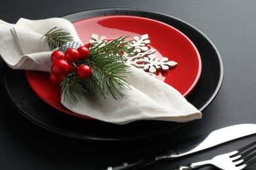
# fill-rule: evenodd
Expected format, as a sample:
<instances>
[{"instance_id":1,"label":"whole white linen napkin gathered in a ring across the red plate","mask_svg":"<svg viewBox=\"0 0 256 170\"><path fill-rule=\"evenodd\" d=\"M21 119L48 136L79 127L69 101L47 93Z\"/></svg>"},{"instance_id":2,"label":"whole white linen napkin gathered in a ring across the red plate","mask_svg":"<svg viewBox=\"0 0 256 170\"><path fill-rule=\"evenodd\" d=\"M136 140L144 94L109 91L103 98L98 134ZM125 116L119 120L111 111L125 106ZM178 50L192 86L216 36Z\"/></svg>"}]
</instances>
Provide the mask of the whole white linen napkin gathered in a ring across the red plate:
<instances>
[{"instance_id":1,"label":"whole white linen napkin gathered in a ring across the red plate","mask_svg":"<svg viewBox=\"0 0 256 170\"><path fill-rule=\"evenodd\" d=\"M72 23L63 18L26 20L16 24L0 20L0 54L12 69L51 71L51 51L41 38L53 27L68 31L74 41L81 42ZM117 37L118 38L118 37ZM113 124L127 124L137 120L164 120L188 122L202 118L200 110L191 105L175 88L144 71L130 66L127 82L131 88L123 88L124 97L106 99L98 93L88 93L85 98L61 96L61 103L77 114L90 116Z\"/></svg>"}]
</instances>

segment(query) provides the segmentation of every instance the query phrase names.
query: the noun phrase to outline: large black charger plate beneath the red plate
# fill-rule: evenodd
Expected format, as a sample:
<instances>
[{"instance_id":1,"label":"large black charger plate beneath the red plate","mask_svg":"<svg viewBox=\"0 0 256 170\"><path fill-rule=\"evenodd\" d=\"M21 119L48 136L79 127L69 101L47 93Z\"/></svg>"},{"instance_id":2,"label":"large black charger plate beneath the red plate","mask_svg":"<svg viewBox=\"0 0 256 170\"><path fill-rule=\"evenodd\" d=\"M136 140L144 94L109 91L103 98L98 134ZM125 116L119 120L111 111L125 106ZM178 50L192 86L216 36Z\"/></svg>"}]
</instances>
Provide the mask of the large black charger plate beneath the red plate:
<instances>
[{"instance_id":1,"label":"large black charger plate beneath the red plate","mask_svg":"<svg viewBox=\"0 0 256 170\"><path fill-rule=\"evenodd\" d=\"M95 16L120 14L142 16L169 24L182 31L196 45L202 58L202 75L186 99L197 109L203 111L221 88L223 63L214 44L192 25L172 16L137 9L95 9L69 14L62 18L75 22ZM11 102L19 112L40 126L70 137L96 141L142 139L172 131L185 124L150 120L116 125L98 120L86 120L60 112L45 103L33 92L28 84L25 71L14 70L4 65L3 82Z\"/></svg>"}]
</instances>

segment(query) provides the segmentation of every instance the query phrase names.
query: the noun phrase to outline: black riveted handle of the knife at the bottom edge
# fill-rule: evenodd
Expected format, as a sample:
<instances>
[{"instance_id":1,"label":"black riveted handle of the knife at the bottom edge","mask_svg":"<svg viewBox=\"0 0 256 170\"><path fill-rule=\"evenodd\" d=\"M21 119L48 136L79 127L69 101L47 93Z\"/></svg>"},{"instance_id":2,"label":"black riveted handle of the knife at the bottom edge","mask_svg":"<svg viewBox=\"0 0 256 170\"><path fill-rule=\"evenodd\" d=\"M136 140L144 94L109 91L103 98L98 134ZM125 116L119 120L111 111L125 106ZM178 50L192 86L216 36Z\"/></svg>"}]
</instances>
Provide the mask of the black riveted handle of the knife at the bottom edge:
<instances>
[{"instance_id":1,"label":"black riveted handle of the knife at the bottom edge","mask_svg":"<svg viewBox=\"0 0 256 170\"><path fill-rule=\"evenodd\" d=\"M145 156L142 158L137 158L134 160L123 161L113 165L109 165L102 169L98 170L128 170L128 169L139 169L140 167L144 167L149 165L150 163L154 163L156 161L156 157L154 155Z\"/></svg>"}]
</instances>

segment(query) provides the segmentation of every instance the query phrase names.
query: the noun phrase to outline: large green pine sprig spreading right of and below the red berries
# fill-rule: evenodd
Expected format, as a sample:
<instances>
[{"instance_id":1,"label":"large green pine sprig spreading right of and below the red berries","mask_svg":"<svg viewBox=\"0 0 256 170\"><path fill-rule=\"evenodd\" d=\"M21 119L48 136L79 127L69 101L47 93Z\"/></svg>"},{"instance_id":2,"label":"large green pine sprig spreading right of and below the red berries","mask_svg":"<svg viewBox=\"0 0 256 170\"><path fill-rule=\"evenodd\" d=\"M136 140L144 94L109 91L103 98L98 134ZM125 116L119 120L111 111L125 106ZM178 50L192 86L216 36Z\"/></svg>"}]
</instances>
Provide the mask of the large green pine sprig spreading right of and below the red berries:
<instances>
[{"instance_id":1,"label":"large green pine sprig spreading right of and below the red berries","mask_svg":"<svg viewBox=\"0 0 256 170\"><path fill-rule=\"evenodd\" d=\"M129 88L129 83L125 80L129 65L125 63L122 52L131 54L129 41L120 37L108 44L102 46L96 44L89 48L90 56L86 60L79 60L75 65L87 64L92 69L92 75L86 80L79 79L74 69L73 73L66 76L61 83L62 93L64 96L71 95L72 99L77 102L74 93L84 97L87 92L99 93L102 97L112 95L114 99L118 96L123 97L123 88Z\"/></svg>"}]
</instances>

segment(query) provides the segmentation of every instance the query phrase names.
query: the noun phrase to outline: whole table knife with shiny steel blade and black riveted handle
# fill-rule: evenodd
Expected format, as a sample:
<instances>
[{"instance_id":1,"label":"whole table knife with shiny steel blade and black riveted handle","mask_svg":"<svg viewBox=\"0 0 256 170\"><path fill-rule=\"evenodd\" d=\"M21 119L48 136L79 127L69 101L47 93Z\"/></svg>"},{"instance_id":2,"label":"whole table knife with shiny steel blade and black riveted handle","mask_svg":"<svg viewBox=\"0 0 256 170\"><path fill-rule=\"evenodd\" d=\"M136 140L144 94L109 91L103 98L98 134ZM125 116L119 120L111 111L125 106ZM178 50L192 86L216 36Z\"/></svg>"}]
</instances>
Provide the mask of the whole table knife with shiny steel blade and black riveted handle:
<instances>
[{"instance_id":1,"label":"whole table knife with shiny steel blade and black riveted handle","mask_svg":"<svg viewBox=\"0 0 256 170\"><path fill-rule=\"evenodd\" d=\"M150 165L156 161L182 158L188 154L193 154L195 152L199 152L207 148L212 148L213 146L253 135L255 133L256 124L238 124L234 126L223 127L210 133L205 133L196 137L190 137L188 139L184 139L183 141L173 143L170 148L166 148L159 153L144 156L142 158L114 163L113 165L109 165L101 169L139 169L140 167L145 167L146 165Z\"/></svg>"}]
</instances>

